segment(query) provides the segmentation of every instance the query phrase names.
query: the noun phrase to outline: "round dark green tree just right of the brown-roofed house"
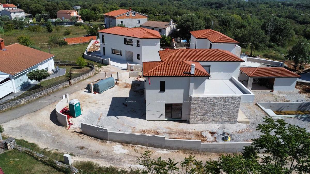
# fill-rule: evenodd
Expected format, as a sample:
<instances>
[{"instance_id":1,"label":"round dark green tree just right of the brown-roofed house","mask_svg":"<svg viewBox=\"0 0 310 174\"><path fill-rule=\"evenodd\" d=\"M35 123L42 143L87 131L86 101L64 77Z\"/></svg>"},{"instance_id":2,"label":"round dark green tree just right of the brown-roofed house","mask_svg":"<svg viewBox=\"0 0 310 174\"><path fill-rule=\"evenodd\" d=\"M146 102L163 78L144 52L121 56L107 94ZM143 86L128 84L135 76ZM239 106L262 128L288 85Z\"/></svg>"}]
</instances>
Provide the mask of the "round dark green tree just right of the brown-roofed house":
<instances>
[{"instance_id":1,"label":"round dark green tree just right of the brown-roofed house","mask_svg":"<svg viewBox=\"0 0 310 174\"><path fill-rule=\"evenodd\" d=\"M189 42L191 35L189 32L203 29L204 23L202 20L198 19L196 15L183 15L178 21L177 28L178 33L181 38L186 39Z\"/></svg>"}]
</instances>

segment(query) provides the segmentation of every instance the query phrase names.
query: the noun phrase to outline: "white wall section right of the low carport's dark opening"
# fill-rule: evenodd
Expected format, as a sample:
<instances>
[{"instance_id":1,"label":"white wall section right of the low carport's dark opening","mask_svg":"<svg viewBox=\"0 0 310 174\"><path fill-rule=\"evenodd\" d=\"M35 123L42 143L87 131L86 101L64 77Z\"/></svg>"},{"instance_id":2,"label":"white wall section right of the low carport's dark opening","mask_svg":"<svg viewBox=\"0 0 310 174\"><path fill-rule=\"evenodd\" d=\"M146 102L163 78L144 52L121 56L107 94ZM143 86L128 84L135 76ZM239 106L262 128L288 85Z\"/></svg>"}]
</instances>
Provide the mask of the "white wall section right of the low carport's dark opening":
<instances>
[{"instance_id":1,"label":"white wall section right of the low carport's dark opening","mask_svg":"<svg viewBox=\"0 0 310 174\"><path fill-rule=\"evenodd\" d=\"M274 91L294 91L297 78L275 78Z\"/></svg>"}]
</instances>

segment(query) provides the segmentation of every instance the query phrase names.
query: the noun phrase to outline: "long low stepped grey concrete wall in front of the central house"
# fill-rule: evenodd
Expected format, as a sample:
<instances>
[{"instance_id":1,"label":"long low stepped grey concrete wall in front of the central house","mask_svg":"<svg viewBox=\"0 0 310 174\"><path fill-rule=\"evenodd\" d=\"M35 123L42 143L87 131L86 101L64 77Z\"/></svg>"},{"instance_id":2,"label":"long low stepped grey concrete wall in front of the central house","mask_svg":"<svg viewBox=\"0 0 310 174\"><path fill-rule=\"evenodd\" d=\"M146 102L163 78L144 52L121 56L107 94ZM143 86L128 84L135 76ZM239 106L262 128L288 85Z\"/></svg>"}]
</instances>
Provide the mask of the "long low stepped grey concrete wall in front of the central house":
<instances>
[{"instance_id":1,"label":"long low stepped grey concrete wall in front of the central house","mask_svg":"<svg viewBox=\"0 0 310 174\"><path fill-rule=\"evenodd\" d=\"M212 153L235 153L242 152L245 146L251 142L223 142L223 143L202 143L200 140L170 139L165 136L113 132L107 128L81 123L82 134L95 137L101 140L114 141L119 143L141 145L170 150L192 150Z\"/></svg>"}]
</instances>

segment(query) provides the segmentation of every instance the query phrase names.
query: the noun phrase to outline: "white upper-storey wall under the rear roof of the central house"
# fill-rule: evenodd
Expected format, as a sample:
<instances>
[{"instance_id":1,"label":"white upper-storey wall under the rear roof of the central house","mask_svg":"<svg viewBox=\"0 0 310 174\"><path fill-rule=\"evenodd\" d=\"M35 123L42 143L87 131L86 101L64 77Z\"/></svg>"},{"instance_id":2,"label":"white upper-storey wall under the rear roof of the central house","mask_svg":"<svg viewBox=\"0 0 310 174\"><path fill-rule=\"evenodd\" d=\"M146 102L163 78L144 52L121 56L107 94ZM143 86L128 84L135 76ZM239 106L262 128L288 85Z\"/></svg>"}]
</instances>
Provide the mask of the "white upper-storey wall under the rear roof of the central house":
<instances>
[{"instance_id":1,"label":"white upper-storey wall under the rear roof of the central house","mask_svg":"<svg viewBox=\"0 0 310 174\"><path fill-rule=\"evenodd\" d=\"M199 62L202 66L210 65L210 80L238 79L240 62Z\"/></svg>"}]
</instances>

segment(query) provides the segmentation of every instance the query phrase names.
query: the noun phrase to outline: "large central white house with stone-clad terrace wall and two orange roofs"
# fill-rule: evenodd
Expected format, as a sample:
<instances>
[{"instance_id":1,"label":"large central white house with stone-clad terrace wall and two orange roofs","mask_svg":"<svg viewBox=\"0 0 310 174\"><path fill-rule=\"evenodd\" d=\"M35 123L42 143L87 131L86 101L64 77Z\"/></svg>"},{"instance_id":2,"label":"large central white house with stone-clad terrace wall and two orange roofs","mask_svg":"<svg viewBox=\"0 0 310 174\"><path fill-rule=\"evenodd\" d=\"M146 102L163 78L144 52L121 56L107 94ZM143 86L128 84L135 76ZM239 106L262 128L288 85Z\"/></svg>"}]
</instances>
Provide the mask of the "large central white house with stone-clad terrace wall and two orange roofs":
<instances>
[{"instance_id":1,"label":"large central white house with stone-clad terrace wall and two orange roofs","mask_svg":"<svg viewBox=\"0 0 310 174\"><path fill-rule=\"evenodd\" d=\"M143 62L146 120L236 123L241 102L254 94L238 80L244 62L226 50L159 51L162 61Z\"/></svg>"}]
</instances>

